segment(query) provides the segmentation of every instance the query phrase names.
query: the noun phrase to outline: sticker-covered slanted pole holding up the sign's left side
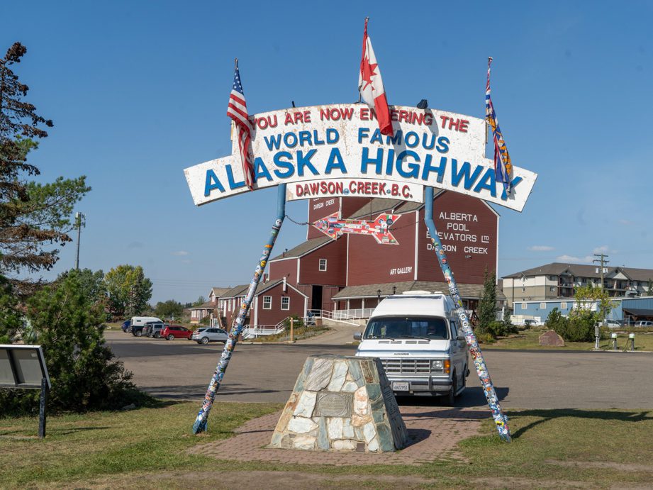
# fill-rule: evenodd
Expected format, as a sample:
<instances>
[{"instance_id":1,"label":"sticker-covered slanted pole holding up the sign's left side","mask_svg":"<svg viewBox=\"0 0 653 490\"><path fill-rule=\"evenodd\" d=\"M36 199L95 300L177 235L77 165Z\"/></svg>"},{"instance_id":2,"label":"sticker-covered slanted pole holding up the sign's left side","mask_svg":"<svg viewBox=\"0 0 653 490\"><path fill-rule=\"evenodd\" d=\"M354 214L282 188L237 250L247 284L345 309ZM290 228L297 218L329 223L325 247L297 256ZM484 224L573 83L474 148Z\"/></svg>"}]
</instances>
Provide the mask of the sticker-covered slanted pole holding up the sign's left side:
<instances>
[{"instance_id":1,"label":"sticker-covered slanted pole holding up the sign's left side","mask_svg":"<svg viewBox=\"0 0 653 490\"><path fill-rule=\"evenodd\" d=\"M265 244L263 249L263 255L259 259L256 269L254 271L254 277L252 282L250 282L250 289L247 289L247 294L245 299L242 300L240 305L240 311L238 311L238 317L233 322L231 331L229 333L229 338L225 343L225 348L222 351L220 361L216 367L216 371L213 372L211 377L211 382L208 384L208 389L206 390L206 395L204 395L204 403L202 403L202 408L200 408L195 423L193 425L193 433L197 434L206 430L206 421L208 419L208 412L211 411L213 406L213 399L216 398L216 393L220 388L223 377L225 376L225 371L229 365L229 360L231 355L235 350L236 344L238 343L238 336L242 333L243 328L245 328L245 318L247 318L247 312L250 310L250 304L252 299L254 299L254 294L256 288L261 280L263 271L265 270L265 265L269 260L270 253L272 252L272 247L274 247L274 242L277 241L277 235L279 235L279 230L281 230L281 224L284 223L284 218L286 217L286 184L280 184L277 187L277 220L274 221L272 226L272 232L270 237Z\"/></svg>"}]
</instances>

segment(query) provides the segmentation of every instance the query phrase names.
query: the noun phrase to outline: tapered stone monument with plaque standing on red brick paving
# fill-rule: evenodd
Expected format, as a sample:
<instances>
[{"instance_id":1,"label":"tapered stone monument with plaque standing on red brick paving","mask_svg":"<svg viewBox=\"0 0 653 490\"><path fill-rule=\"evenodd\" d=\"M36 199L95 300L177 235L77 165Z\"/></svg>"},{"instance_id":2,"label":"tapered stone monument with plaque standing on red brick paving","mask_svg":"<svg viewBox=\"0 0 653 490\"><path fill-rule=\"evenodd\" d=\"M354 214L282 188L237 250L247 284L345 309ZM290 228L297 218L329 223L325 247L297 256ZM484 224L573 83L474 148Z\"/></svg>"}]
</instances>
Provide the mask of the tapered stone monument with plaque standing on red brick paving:
<instances>
[{"instance_id":1,"label":"tapered stone monument with plaque standing on red brick paving","mask_svg":"<svg viewBox=\"0 0 653 490\"><path fill-rule=\"evenodd\" d=\"M408 443L376 357L313 355L304 363L269 447L391 452Z\"/></svg>"}]
</instances>

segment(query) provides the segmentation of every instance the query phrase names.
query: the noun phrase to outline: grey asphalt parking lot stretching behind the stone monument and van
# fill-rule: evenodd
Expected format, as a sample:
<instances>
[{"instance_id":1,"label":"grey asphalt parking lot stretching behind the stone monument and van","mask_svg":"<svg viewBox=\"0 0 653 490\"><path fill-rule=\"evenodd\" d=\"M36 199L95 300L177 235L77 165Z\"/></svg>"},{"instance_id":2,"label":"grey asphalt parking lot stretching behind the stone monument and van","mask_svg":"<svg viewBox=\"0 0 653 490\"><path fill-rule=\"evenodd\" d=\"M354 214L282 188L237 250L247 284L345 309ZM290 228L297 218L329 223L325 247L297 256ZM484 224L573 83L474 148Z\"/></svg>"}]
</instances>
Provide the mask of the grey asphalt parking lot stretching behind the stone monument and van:
<instances>
[{"instance_id":1,"label":"grey asphalt parking lot stretching behind the stone monument and van","mask_svg":"<svg viewBox=\"0 0 653 490\"><path fill-rule=\"evenodd\" d=\"M107 332L106 339L140 388L168 399L201 399L223 349L221 343L150 340L121 332ZM218 397L285 403L308 355L353 355L355 350L351 345L239 344ZM484 355L506 408L653 408L652 354L485 350ZM459 406L486 406L474 372Z\"/></svg>"}]
</instances>

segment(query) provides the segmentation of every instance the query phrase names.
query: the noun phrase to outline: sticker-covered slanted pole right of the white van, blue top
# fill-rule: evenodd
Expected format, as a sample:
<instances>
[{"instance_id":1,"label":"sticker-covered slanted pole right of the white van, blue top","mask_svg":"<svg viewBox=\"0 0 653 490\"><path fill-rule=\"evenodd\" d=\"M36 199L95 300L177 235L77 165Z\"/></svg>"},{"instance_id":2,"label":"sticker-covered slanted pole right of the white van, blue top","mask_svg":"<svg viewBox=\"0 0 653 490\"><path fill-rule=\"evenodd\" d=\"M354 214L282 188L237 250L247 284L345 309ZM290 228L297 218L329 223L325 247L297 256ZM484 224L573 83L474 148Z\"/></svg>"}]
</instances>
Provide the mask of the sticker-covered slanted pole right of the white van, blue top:
<instances>
[{"instance_id":1,"label":"sticker-covered slanted pole right of the white van, blue top","mask_svg":"<svg viewBox=\"0 0 653 490\"><path fill-rule=\"evenodd\" d=\"M437 261L440 262L440 268L442 269L442 274L445 276L445 281L449 285L449 293L451 299L454 301L456 306L456 313L462 325L462 330L465 335L465 340L467 345L469 345L469 353L471 354L472 359L474 359L474 367L476 367L476 374L479 375L481 379L481 387L492 411L492 418L494 423L496 423L496 429L498 430L499 436L501 439L506 442L510 442L512 438L510 437L510 429L508 428L508 416L503 414L501 411L501 405L496 396L496 391L494 390L494 385L490 379L490 373L485 364L483 358L483 353L481 352L481 347L476 341L476 335L474 335L474 330L471 329L471 323L469 323L469 318L467 318L467 313L462 306L462 299L460 299L460 294L458 292L458 286L456 284L456 279L454 279L454 274L451 272L451 267L449 267L449 261L447 260L447 255L445 255L445 250L442 248L442 242L437 236L437 230L435 229L435 223L433 222L433 188L425 187L424 190L424 223L426 223L426 228L428 228L428 233L431 236L431 243L433 244L433 250L437 255Z\"/></svg>"}]
</instances>

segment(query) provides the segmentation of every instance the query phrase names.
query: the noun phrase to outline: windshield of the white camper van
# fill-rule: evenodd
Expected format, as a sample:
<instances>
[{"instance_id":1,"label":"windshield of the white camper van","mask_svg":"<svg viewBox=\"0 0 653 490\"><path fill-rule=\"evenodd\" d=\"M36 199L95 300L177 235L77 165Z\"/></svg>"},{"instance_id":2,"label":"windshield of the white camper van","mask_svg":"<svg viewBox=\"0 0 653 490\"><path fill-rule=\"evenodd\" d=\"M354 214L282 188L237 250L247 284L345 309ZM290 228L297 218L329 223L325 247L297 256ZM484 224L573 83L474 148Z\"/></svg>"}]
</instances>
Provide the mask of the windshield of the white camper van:
<instances>
[{"instance_id":1,"label":"windshield of the white camper van","mask_svg":"<svg viewBox=\"0 0 653 490\"><path fill-rule=\"evenodd\" d=\"M449 329L445 318L437 316L379 316L367 323L363 338L442 340L449 338Z\"/></svg>"}]
</instances>

